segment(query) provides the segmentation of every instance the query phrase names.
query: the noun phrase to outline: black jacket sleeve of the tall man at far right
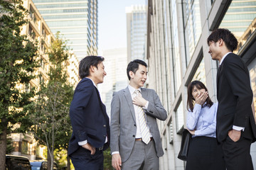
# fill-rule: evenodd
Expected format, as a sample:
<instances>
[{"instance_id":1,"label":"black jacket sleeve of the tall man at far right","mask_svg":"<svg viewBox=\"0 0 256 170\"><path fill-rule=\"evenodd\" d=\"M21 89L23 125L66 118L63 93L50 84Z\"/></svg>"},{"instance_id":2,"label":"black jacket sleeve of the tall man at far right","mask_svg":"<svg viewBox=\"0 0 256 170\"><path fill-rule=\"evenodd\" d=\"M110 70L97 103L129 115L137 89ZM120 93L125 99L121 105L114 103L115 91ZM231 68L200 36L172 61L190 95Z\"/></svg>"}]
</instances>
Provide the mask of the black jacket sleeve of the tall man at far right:
<instances>
[{"instance_id":1,"label":"black jacket sleeve of the tall man at far right","mask_svg":"<svg viewBox=\"0 0 256 170\"><path fill-rule=\"evenodd\" d=\"M248 114L247 109L251 109L252 104L252 89L250 87L250 77L247 67L242 62L228 60L225 62L223 69L233 95L237 98L233 125L244 128L245 117Z\"/></svg>"}]
</instances>

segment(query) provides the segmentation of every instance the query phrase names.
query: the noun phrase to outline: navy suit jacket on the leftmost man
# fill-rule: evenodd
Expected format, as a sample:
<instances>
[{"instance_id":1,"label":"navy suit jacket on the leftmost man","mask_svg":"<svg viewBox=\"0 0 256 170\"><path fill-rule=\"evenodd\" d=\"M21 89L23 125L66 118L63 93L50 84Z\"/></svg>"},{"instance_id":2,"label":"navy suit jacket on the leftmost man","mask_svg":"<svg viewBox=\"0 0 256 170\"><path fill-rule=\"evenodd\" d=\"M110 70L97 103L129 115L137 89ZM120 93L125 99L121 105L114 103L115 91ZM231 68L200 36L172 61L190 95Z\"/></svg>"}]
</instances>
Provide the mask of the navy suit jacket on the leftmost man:
<instances>
[{"instance_id":1,"label":"navy suit jacket on the leftmost man","mask_svg":"<svg viewBox=\"0 0 256 170\"><path fill-rule=\"evenodd\" d=\"M70 105L70 120L73 134L68 155L75 154L80 147L78 142L85 140L93 147L104 146L104 149L107 149L110 143L110 120L106 107L100 99L99 91L90 79L82 79L75 88ZM107 144L105 144L106 136Z\"/></svg>"}]
</instances>

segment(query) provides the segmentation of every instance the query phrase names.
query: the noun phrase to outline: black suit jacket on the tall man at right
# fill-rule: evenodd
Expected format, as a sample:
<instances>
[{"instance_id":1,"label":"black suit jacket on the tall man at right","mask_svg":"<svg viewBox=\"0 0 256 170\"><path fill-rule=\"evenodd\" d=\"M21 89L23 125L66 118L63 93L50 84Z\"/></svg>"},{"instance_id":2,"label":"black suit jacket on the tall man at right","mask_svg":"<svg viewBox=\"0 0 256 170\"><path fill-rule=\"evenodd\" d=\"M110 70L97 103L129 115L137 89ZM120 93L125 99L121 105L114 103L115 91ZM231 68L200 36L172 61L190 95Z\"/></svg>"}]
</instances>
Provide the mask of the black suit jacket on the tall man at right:
<instances>
[{"instance_id":1,"label":"black suit jacket on the tall man at right","mask_svg":"<svg viewBox=\"0 0 256 170\"><path fill-rule=\"evenodd\" d=\"M217 74L217 139L228 136L233 125L244 127L243 137L256 140L256 125L252 114L252 89L247 66L238 55L228 54Z\"/></svg>"}]
</instances>

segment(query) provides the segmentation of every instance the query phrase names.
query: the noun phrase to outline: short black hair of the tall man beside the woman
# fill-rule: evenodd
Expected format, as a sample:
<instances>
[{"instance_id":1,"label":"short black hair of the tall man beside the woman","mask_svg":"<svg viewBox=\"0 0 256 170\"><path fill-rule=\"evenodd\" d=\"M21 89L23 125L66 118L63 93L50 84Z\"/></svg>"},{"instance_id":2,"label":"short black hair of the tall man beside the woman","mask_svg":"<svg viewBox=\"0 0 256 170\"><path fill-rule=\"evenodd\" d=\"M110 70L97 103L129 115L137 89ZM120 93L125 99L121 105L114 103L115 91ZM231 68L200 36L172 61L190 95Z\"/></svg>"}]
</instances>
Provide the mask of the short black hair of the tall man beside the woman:
<instances>
[{"instance_id":1,"label":"short black hair of the tall man beside the woman","mask_svg":"<svg viewBox=\"0 0 256 170\"><path fill-rule=\"evenodd\" d=\"M238 47L238 40L235 38L235 35L230 32L230 30L225 28L218 28L213 30L213 32L207 38L207 44L210 45L210 42L217 42L222 39L225 42L228 50L233 52Z\"/></svg>"}]
</instances>

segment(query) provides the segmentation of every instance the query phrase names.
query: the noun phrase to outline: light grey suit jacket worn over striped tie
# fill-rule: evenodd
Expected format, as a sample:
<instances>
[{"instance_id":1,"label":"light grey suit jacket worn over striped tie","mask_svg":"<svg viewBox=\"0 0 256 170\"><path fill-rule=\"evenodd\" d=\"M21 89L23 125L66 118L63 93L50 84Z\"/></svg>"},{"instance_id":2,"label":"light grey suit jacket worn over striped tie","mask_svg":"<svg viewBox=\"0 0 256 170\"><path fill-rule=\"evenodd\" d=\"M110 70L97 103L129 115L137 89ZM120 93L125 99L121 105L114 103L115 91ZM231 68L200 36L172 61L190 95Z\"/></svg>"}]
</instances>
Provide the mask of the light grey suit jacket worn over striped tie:
<instances>
[{"instance_id":1,"label":"light grey suit jacket worn over striped tie","mask_svg":"<svg viewBox=\"0 0 256 170\"><path fill-rule=\"evenodd\" d=\"M142 97L149 101L149 106L145 110L146 122L156 144L157 157L161 157L164 151L161 146L156 118L166 120L166 110L161 105L156 91L142 88ZM137 125L132 96L127 87L126 89L114 92L111 102L110 148L111 152L119 152L122 162L127 161L132 152L136 131Z\"/></svg>"}]
</instances>

